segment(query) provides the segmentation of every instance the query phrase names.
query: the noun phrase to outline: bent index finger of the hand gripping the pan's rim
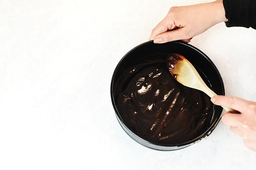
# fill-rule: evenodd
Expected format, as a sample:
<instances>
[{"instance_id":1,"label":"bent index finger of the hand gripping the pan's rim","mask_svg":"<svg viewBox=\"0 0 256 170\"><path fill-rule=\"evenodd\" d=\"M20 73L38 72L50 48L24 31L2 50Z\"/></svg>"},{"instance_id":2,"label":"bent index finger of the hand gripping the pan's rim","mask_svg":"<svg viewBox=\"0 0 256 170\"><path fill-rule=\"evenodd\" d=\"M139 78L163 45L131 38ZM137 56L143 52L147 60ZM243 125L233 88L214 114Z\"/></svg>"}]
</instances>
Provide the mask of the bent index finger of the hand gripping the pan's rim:
<instances>
[{"instance_id":1,"label":"bent index finger of the hand gripping the pan's rim","mask_svg":"<svg viewBox=\"0 0 256 170\"><path fill-rule=\"evenodd\" d=\"M155 26L152 30L149 40L153 40L156 35L166 32L167 30L172 30L176 27L174 23L170 23L165 17L159 24Z\"/></svg>"}]
</instances>

